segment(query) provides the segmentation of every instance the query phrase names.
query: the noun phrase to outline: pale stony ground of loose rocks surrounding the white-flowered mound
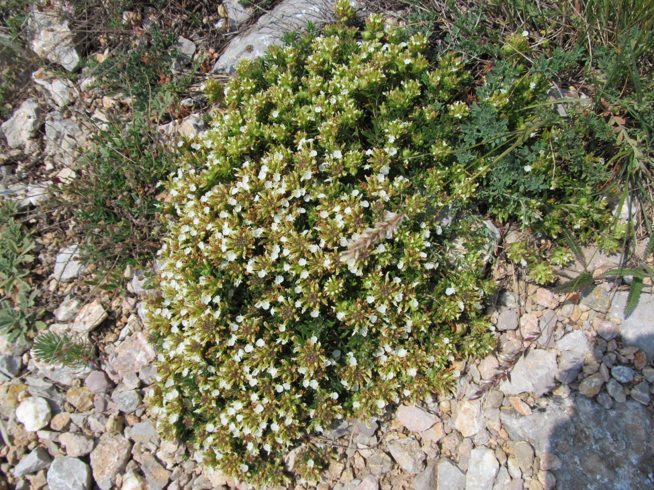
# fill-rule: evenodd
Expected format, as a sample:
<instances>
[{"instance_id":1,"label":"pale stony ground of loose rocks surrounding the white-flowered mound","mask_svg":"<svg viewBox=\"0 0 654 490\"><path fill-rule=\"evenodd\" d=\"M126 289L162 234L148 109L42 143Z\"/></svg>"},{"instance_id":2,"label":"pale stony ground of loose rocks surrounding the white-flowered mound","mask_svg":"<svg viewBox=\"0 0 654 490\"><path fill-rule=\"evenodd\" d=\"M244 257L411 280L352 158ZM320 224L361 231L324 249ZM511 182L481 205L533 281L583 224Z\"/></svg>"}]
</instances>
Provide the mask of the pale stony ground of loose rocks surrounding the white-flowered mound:
<instances>
[{"instance_id":1,"label":"pale stony ground of loose rocks surrounding the white-flowered mound","mask_svg":"<svg viewBox=\"0 0 654 490\"><path fill-rule=\"evenodd\" d=\"M328 3L285 0L254 23L243 8L237 12L237 2L224 4L236 9L229 10L234 29L252 26L233 37L216 61L216 72L232 71L239 57L261 54L289 25L301 29L307 20L327 18L330 8ZM67 23L57 25L55 33L69 29ZM52 35L50 29L40 31L35 25L33 50L75 69L73 44L39 51L45 33ZM194 56L194 42L179 42L182 52ZM74 84L37 70L27 92L29 97L2 125L9 146L4 161L20 163L3 173L0 194L17 199L23 209L46 199L53 182L75 178L80 149L94 128L106 122L108 112L120 113L128 104L120 95L103 93L84 74ZM189 103L193 107L195 101ZM162 127L164 132L202 129L197 115ZM39 172L26 173L31 167ZM0 338L0 490L242 490L238 482L202 474L192 448L162 442L150 421L143 397L156 379L156 351L144 333L142 301L148 291L143 273L125 271L128 295L89 296L80 282L87 272L77 260L76 246L59 248L48 236L39 240L39 259L44 274L50 274L43 289L59 305L48 328L79 335L101 332L107 359L101 370L44 365L31 357L29 343ZM603 259L591 270L611 265L611 257ZM654 487L654 306L644 295L625 319L627 293L611 286L555 295L514 281L489 306L498 351L460 361L455 396L388 407L384 416L368 423L333 425L313 442L334 446L335 461L320 482L296 482L296 487ZM538 340L524 340L534 332L540 333ZM528 344L530 351L513 369L510 382L470 399L482 380L496 374L501 353ZM294 453L286 465L292 469Z\"/></svg>"}]
</instances>

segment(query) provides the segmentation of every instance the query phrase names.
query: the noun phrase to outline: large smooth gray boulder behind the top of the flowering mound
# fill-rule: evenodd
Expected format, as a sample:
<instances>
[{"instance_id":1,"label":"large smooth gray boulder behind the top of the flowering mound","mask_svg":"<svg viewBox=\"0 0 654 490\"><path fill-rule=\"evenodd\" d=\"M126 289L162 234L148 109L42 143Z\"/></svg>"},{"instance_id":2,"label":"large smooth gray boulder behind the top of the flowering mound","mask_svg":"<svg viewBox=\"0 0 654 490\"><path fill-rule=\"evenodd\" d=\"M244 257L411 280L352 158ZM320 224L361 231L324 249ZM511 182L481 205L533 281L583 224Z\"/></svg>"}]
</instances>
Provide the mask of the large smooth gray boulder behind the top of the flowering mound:
<instances>
[{"instance_id":1,"label":"large smooth gray boulder behind the top of the flowering mound","mask_svg":"<svg viewBox=\"0 0 654 490\"><path fill-rule=\"evenodd\" d=\"M282 44L284 33L302 31L307 22L322 25L334 16L332 0L284 0L242 34L237 35L218 58L213 73L233 73L241 59L263 56L271 44Z\"/></svg>"}]
</instances>

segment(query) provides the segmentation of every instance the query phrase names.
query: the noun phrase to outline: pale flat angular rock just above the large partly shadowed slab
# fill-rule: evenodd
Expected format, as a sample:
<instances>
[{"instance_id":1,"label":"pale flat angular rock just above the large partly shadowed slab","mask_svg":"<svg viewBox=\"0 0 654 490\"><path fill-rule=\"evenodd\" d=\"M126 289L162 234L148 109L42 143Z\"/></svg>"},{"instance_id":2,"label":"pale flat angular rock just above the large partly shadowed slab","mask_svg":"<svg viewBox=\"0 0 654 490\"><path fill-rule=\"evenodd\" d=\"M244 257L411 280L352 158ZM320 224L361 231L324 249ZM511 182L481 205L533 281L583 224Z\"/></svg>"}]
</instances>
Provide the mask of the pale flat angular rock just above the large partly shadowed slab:
<instances>
[{"instance_id":1,"label":"pale flat angular rock just above the large partly shadowed slab","mask_svg":"<svg viewBox=\"0 0 654 490\"><path fill-rule=\"evenodd\" d=\"M500 389L509 395L519 395L533 391L543 395L556 384L557 355L547 350L532 350L526 357L521 357L511 372L511 382L504 380Z\"/></svg>"}]
</instances>

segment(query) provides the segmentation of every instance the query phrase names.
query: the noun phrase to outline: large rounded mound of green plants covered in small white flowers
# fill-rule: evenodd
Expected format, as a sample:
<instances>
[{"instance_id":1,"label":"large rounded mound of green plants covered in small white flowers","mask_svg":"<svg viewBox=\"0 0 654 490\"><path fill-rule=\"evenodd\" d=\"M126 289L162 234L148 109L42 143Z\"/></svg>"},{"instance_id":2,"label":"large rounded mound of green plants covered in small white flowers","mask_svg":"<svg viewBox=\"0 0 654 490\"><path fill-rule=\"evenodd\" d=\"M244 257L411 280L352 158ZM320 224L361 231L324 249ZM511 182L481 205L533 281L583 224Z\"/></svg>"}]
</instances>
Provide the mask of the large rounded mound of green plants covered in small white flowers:
<instances>
[{"instance_id":1,"label":"large rounded mound of green plants covered in small white flowers","mask_svg":"<svg viewBox=\"0 0 654 490\"><path fill-rule=\"evenodd\" d=\"M540 120L530 107L542 77L506 61L471 105L462 58L430 63L422 33L381 16L364 32L330 25L243 61L225 85L205 82L220 114L182 144L167 182L160 295L148 305L159 349L150 412L164 437L182 436L232 478L282 483L283 455L305 434L452 389L455 358L490 349L492 284L474 242L469 267L450 258L466 225L446 227L445 206L453 216L513 199L532 214L502 217L528 224L551 204L540 148L559 155L562 130L549 106ZM584 162L557 177L592 189ZM569 204L567 189L546 186ZM587 210L602 220L601 201L553 223ZM303 478L325 460L311 451Z\"/></svg>"}]
</instances>

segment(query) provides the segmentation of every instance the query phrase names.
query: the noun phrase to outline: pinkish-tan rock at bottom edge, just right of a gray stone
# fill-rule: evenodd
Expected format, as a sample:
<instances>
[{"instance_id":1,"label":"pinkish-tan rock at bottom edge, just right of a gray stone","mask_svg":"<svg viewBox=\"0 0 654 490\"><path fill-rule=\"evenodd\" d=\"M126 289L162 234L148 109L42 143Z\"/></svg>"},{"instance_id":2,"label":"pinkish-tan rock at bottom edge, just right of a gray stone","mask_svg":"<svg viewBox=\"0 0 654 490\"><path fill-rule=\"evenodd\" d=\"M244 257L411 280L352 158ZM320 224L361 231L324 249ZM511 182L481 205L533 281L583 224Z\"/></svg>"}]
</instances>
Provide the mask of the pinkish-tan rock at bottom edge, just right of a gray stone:
<instances>
[{"instance_id":1,"label":"pinkish-tan rock at bottom edge, just right of a gray stone","mask_svg":"<svg viewBox=\"0 0 654 490\"><path fill-rule=\"evenodd\" d=\"M104 433L91 453L91 467L95 483L102 490L110 490L116 475L124 472L131 454L131 442L120 434Z\"/></svg>"}]
</instances>

